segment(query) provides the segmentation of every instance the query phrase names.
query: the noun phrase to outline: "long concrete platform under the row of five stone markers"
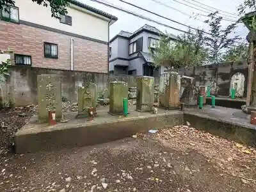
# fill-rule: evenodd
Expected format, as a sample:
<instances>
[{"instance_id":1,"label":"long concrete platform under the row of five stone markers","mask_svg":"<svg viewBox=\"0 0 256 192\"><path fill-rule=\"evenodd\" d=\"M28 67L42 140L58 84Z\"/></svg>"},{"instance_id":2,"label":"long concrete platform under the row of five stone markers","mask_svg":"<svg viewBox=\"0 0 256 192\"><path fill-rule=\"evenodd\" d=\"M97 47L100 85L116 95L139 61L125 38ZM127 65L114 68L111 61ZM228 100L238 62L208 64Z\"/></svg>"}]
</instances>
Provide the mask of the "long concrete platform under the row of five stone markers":
<instances>
[{"instance_id":1,"label":"long concrete platform under the row of five stone markers","mask_svg":"<svg viewBox=\"0 0 256 192\"><path fill-rule=\"evenodd\" d=\"M15 135L17 153L61 149L110 142L131 137L152 128L172 127L182 124L183 113L178 110L158 110L158 114L140 113L131 109L128 117L108 114L108 109L98 110L93 121L75 119L77 112L65 114L68 122L55 126L38 124L37 117L20 129Z\"/></svg>"}]
</instances>

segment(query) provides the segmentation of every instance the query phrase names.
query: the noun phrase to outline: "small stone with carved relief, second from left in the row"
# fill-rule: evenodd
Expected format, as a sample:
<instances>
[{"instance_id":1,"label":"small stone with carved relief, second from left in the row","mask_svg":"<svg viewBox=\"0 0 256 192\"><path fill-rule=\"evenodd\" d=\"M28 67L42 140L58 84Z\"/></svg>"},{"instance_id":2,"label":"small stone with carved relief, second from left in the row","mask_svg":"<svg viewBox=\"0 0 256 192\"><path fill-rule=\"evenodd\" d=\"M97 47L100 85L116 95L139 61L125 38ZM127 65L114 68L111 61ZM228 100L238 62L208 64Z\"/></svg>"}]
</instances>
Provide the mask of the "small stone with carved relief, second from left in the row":
<instances>
[{"instance_id":1,"label":"small stone with carved relief, second from left in the row","mask_svg":"<svg viewBox=\"0 0 256 192\"><path fill-rule=\"evenodd\" d=\"M96 112L97 105L97 85L92 82L87 82L78 87L78 114L79 117L88 116L88 108L93 108Z\"/></svg>"}]
</instances>

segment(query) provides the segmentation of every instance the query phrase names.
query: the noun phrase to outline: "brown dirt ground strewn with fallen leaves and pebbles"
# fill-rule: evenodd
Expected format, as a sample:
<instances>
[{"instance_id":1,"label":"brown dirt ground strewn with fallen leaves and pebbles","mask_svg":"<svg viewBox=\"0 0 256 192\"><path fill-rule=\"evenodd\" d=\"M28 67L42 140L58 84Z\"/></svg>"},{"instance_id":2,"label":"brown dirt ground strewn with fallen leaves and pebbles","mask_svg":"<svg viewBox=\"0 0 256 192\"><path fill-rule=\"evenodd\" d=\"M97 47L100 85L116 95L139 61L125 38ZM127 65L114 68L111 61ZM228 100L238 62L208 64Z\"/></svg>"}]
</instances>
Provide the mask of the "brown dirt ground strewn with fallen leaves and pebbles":
<instances>
[{"instance_id":1,"label":"brown dirt ground strewn with fallen leaves and pebbles","mask_svg":"<svg viewBox=\"0 0 256 192\"><path fill-rule=\"evenodd\" d=\"M17 112L12 130L31 113L33 108ZM256 191L255 165L254 148L177 126L108 144L35 154L15 155L2 145L0 191L248 192Z\"/></svg>"}]
</instances>

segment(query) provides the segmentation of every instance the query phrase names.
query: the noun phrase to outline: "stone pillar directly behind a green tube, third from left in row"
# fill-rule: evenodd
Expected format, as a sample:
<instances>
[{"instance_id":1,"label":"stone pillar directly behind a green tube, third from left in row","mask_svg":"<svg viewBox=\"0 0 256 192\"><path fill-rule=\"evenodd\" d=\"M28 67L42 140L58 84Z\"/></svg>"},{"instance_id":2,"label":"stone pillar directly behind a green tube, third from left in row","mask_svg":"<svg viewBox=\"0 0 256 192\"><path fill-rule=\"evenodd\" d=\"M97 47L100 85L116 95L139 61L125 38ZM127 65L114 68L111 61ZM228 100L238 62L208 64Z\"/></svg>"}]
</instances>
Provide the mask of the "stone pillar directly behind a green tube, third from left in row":
<instances>
[{"instance_id":1,"label":"stone pillar directly behind a green tube, third from left in row","mask_svg":"<svg viewBox=\"0 0 256 192\"><path fill-rule=\"evenodd\" d=\"M109 114L123 114L123 98L128 97L128 85L125 82L114 81L109 84Z\"/></svg>"}]
</instances>

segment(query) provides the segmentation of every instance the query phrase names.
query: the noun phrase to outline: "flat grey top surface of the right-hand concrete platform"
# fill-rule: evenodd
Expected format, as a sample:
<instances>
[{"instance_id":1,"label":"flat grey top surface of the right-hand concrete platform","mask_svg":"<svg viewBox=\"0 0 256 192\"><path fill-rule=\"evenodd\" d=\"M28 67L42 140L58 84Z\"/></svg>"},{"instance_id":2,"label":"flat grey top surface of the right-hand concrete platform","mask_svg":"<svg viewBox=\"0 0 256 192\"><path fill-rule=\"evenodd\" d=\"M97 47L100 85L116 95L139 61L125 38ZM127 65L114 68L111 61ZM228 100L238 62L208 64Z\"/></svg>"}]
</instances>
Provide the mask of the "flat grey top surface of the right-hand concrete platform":
<instances>
[{"instance_id":1,"label":"flat grey top surface of the right-hand concrete platform","mask_svg":"<svg viewBox=\"0 0 256 192\"><path fill-rule=\"evenodd\" d=\"M242 110L236 108L226 108L216 106L212 108L210 105L205 105L202 109L186 108L186 114L197 115L217 121L230 122L244 128L256 129L256 126L250 124L250 115L246 115Z\"/></svg>"}]
</instances>

